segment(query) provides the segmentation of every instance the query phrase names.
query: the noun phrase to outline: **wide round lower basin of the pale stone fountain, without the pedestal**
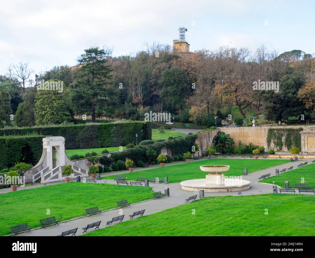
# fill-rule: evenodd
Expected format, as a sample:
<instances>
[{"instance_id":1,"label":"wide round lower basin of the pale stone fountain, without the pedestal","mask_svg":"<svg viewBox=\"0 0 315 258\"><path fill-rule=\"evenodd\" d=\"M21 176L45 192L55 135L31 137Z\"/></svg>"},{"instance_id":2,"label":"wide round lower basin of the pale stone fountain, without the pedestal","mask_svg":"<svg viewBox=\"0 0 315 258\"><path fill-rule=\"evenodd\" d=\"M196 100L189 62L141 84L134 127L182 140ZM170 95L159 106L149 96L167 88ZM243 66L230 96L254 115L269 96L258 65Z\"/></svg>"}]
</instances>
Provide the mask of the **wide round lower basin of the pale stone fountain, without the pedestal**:
<instances>
[{"instance_id":1,"label":"wide round lower basin of the pale stone fountain, without the pedestal","mask_svg":"<svg viewBox=\"0 0 315 258\"><path fill-rule=\"evenodd\" d=\"M182 181L180 185L183 190L193 192L199 192L200 190L204 190L205 192L236 192L249 189L250 181L226 178L223 186L207 186L206 179L193 179Z\"/></svg>"}]
</instances>

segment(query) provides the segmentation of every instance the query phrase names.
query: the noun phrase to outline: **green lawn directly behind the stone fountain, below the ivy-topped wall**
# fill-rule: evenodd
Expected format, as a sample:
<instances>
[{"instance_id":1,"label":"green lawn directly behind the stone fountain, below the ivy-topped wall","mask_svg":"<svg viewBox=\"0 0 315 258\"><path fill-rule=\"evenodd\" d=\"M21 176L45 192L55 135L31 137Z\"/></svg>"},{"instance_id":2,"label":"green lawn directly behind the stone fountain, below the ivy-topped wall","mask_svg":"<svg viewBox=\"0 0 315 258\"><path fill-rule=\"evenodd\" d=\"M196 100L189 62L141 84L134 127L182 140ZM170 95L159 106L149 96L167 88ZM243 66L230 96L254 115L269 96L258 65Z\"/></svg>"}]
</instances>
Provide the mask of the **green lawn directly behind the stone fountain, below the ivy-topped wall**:
<instances>
[{"instance_id":1,"label":"green lawn directly behind the stone fountain, below the ivy-topped wall","mask_svg":"<svg viewBox=\"0 0 315 258\"><path fill-rule=\"evenodd\" d=\"M197 162L184 163L179 165L173 165L163 168L148 169L142 171L135 171L132 173L122 174L127 177L128 180L136 180L137 177L152 177L164 178L169 177L170 183L181 182L190 179L205 178L206 172L200 170L199 166L202 165L230 165L230 169L224 172L227 176L243 175L244 169L248 170L248 173L254 172L260 169L266 169L272 166L283 164L288 162L287 159L232 159L232 158L214 158ZM102 177L102 179L114 179L115 175Z\"/></svg>"}]
</instances>

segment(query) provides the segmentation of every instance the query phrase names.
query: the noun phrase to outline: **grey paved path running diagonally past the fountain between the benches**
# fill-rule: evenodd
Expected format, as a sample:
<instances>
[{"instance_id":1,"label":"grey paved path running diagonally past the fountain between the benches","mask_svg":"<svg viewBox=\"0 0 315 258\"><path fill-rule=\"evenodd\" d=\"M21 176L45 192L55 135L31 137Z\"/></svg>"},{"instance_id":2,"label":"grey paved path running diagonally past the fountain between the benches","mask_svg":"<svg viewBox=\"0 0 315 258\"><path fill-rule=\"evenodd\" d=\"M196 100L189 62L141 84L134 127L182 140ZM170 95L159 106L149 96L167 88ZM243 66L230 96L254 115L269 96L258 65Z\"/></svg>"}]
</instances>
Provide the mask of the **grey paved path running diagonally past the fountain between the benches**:
<instances>
[{"instance_id":1,"label":"grey paved path running diagonally past the fountain between the benches","mask_svg":"<svg viewBox=\"0 0 315 258\"><path fill-rule=\"evenodd\" d=\"M308 161L310 163L310 159L303 159L301 162L306 162ZM243 176L242 179L251 181L250 188L248 190L242 191L242 195L251 195L251 194L264 194L264 193L271 193L272 192L272 185L268 184L262 184L262 183L257 183L259 181L258 177L261 175L265 175L268 173L271 173L271 176L275 175L275 169L282 170L284 168L289 168L290 166L293 165L293 169L297 168L297 165L301 162L295 162L295 163L286 163L282 164L276 167L268 168L268 169L263 169L257 172L253 172L248 174L247 176ZM169 164L170 165L170 164ZM116 184L115 181L113 180L99 180L97 183L109 183L109 184ZM96 221L102 221L100 224L100 228L104 228L106 226L106 221L110 221L113 217L117 217L119 215L125 215L123 221L129 220L129 215L133 214L135 211L139 211L142 209L145 209L145 215L156 213L165 209L170 209L182 204L185 204L186 201L185 199L188 198L189 196L198 194L198 192L190 192L190 191L185 191L181 189L180 183L176 184L156 184L156 183L150 183L150 187L153 187L153 191L161 191L164 192L164 188L168 187L170 191L170 196L161 198L161 199L151 199L148 201L144 201L141 203L137 204L132 204L130 207L126 207L123 209L112 209L109 211L102 212L101 214L98 215L93 215L90 217L83 217L79 219L74 219L71 221L67 221L64 223L60 223L60 225L56 226L49 226L46 229L36 229L32 230L31 232L28 233L22 233L20 234L21 236L56 236L61 234L61 232L64 232L66 230L70 230L72 228L78 227L77 234L76 235L81 235L83 233L83 230L81 228L85 227L89 223L93 223ZM125 187L142 187L142 186L125 186ZM199 194L198 194L199 195ZM205 197L208 196L238 196L238 192L206 192ZM198 196L199 198L199 196ZM127 198L128 199L128 198ZM97 205L97 204L95 204ZM119 214L119 212L121 214ZM116 223L116 222L115 222ZM94 229L89 229L88 232L93 231Z\"/></svg>"}]
</instances>

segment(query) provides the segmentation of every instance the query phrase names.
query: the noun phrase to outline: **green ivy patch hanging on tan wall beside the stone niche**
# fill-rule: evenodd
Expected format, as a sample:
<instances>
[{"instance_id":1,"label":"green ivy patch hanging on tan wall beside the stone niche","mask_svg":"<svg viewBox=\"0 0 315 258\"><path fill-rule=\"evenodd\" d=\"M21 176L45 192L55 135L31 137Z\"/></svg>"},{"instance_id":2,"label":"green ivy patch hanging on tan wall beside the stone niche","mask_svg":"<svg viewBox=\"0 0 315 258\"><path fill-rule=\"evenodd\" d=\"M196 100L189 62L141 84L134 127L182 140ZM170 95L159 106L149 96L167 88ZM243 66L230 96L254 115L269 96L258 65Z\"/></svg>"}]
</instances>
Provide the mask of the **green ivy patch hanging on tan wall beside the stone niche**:
<instances>
[{"instance_id":1,"label":"green ivy patch hanging on tan wall beside the stone niche","mask_svg":"<svg viewBox=\"0 0 315 258\"><path fill-rule=\"evenodd\" d=\"M267 132L267 146L274 147L275 151L289 151L296 147L301 150L301 135L303 128L269 128Z\"/></svg>"}]
</instances>

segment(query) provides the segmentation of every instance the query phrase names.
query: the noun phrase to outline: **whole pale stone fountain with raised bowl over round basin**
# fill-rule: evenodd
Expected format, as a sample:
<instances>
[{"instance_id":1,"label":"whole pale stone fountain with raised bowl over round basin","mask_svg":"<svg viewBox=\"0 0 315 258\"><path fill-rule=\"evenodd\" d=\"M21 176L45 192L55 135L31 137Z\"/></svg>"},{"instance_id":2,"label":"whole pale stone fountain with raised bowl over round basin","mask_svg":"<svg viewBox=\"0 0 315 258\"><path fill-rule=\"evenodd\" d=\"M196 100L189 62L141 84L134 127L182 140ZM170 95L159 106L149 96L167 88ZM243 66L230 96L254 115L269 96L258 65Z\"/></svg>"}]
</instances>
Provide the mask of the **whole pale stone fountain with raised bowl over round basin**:
<instances>
[{"instance_id":1,"label":"whole pale stone fountain with raised bowl over round basin","mask_svg":"<svg viewBox=\"0 0 315 258\"><path fill-rule=\"evenodd\" d=\"M205 179L186 180L180 183L181 188L187 191L199 192L234 192L249 189L250 181L240 177L225 178L221 172L230 169L228 165L205 165L200 166L204 172L209 172Z\"/></svg>"}]
</instances>

